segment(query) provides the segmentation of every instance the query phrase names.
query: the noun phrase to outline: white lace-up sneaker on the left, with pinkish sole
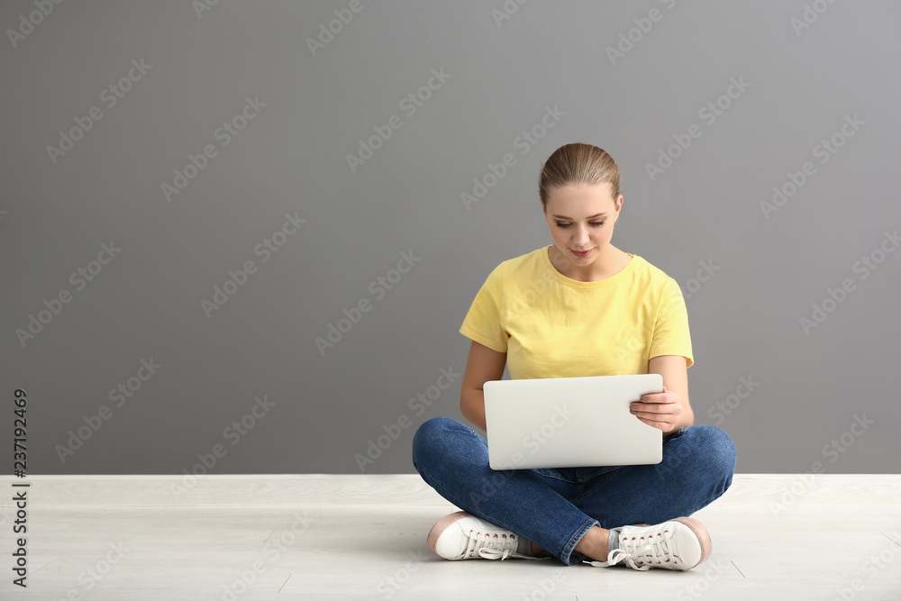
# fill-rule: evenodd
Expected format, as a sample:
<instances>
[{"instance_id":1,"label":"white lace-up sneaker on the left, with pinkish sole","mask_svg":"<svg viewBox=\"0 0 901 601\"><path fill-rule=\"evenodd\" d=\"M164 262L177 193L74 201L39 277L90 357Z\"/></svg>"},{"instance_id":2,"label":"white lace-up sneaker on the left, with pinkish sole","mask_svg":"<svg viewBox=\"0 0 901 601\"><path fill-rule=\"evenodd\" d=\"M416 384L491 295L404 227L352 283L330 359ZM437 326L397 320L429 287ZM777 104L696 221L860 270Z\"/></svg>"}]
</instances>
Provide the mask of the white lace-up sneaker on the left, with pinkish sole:
<instances>
[{"instance_id":1,"label":"white lace-up sneaker on the left, with pinkish sole","mask_svg":"<svg viewBox=\"0 0 901 601\"><path fill-rule=\"evenodd\" d=\"M445 560L543 560L516 552L520 537L465 511L442 517L432 526L429 549Z\"/></svg>"}]
</instances>

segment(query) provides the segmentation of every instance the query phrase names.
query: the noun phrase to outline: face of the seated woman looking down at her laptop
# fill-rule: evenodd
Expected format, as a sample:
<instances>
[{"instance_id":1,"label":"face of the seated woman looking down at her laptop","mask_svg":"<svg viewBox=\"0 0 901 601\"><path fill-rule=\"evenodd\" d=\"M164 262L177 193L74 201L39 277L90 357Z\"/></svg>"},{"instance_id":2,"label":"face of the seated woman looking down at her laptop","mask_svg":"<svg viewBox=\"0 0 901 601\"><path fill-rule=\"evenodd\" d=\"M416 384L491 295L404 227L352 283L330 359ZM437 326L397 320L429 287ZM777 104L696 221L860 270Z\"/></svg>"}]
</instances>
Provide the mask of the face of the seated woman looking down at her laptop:
<instances>
[{"instance_id":1,"label":"face of the seated woman looking down at her laptop","mask_svg":"<svg viewBox=\"0 0 901 601\"><path fill-rule=\"evenodd\" d=\"M614 200L610 183L551 187L544 218L560 254L578 267L593 263L610 243L623 195ZM587 253L577 254L578 250Z\"/></svg>"}]
</instances>

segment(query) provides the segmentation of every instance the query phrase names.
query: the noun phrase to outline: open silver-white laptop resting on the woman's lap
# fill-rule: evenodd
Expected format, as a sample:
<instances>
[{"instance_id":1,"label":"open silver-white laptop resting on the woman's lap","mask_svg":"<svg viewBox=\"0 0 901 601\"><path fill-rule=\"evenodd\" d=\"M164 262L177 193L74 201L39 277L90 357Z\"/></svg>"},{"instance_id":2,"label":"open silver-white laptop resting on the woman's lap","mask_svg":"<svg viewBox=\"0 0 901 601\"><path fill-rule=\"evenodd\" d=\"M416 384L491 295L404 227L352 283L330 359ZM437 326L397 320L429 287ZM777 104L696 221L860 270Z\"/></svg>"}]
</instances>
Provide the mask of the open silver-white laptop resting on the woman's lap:
<instances>
[{"instance_id":1,"label":"open silver-white laptop resting on the woman's lap","mask_svg":"<svg viewBox=\"0 0 901 601\"><path fill-rule=\"evenodd\" d=\"M650 465L663 431L629 412L663 392L660 374L488 380L485 422L491 469Z\"/></svg>"}]
</instances>

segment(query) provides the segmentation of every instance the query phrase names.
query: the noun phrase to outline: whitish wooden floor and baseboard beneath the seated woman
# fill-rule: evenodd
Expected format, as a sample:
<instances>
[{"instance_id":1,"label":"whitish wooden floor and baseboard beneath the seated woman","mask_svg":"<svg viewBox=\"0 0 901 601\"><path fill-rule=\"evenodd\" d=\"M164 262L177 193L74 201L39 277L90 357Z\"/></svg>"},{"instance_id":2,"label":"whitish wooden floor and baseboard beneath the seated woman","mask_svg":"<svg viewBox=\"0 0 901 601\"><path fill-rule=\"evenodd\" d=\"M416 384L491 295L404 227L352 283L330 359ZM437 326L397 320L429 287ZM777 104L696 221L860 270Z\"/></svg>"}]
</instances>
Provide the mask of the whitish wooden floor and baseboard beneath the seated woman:
<instances>
[{"instance_id":1,"label":"whitish wooden floor and baseboard beneath the seated woman","mask_svg":"<svg viewBox=\"0 0 901 601\"><path fill-rule=\"evenodd\" d=\"M901 601L901 475L737 474L694 514L714 548L686 572L441 560L426 534L456 507L417 475L24 481L28 587L12 584L23 480L0 478L0 599Z\"/></svg>"}]
</instances>

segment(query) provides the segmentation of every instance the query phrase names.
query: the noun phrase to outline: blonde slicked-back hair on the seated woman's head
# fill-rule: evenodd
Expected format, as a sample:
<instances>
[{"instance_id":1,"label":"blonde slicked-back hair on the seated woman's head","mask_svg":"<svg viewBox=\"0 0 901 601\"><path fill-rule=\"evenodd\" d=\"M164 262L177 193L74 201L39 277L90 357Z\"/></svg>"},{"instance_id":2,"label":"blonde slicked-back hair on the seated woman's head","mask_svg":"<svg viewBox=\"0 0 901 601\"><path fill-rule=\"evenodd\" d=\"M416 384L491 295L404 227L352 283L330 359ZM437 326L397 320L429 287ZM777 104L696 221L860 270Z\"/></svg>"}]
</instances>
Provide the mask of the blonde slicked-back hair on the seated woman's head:
<instances>
[{"instance_id":1,"label":"blonde slicked-back hair on the seated woman's head","mask_svg":"<svg viewBox=\"0 0 901 601\"><path fill-rule=\"evenodd\" d=\"M574 142L564 144L544 161L538 179L538 194L544 210L548 210L551 187L595 186L610 182L614 202L619 197L619 168L606 150Z\"/></svg>"}]
</instances>

